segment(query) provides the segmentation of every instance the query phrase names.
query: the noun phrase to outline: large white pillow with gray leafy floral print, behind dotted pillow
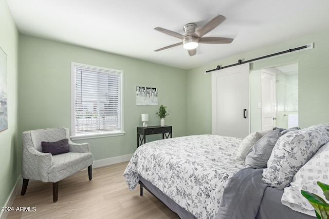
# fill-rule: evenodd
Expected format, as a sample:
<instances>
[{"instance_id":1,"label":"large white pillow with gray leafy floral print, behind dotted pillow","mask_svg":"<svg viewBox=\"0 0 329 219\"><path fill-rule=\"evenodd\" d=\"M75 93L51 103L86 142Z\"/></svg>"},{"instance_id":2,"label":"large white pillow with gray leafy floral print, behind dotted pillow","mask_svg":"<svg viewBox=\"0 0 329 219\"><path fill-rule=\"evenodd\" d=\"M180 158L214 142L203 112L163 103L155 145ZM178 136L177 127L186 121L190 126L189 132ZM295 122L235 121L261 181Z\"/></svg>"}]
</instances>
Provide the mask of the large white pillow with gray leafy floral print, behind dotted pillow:
<instances>
[{"instance_id":1,"label":"large white pillow with gray leafy floral print, behind dotted pillow","mask_svg":"<svg viewBox=\"0 0 329 219\"><path fill-rule=\"evenodd\" d=\"M296 172L327 142L329 124L282 135L273 148L267 168L263 170L263 183L280 189L289 186Z\"/></svg>"}]
</instances>

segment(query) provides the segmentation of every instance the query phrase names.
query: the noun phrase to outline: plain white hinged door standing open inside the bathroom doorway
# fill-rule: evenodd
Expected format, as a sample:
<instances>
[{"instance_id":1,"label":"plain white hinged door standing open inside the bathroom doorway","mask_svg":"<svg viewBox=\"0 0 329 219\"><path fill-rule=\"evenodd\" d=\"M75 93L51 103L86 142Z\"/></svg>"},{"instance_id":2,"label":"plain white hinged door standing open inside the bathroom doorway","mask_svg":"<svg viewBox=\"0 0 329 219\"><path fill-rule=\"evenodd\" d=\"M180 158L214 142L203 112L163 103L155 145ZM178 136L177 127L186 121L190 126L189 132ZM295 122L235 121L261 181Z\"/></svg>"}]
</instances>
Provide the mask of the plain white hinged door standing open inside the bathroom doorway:
<instances>
[{"instance_id":1,"label":"plain white hinged door standing open inside the bathroom doorway","mask_svg":"<svg viewBox=\"0 0 329 219\"><path fill-rule=\"evenodd\" d=\"M275 73L262 70L262 130L276 126L276 77Z\"/></svg>"}]
</instances>

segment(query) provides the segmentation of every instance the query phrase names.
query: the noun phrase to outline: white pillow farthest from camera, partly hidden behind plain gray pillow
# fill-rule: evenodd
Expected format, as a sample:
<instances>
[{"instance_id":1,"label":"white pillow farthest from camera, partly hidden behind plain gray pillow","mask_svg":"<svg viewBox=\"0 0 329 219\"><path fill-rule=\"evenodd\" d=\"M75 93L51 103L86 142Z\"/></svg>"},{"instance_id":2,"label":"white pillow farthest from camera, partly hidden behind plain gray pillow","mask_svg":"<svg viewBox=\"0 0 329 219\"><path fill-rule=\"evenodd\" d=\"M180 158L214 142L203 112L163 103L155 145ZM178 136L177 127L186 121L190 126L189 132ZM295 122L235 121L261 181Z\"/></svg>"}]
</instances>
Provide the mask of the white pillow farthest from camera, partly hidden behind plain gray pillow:
<instances>
[{"instance_id":1,"label":"white pillow farthest from camera, partly hidden behind plain gray pillow","mask_svg":"<svg viewBox=\"0 0 329 219\"><path fill-rule=\"evenodd\" d=\"M246 155L249 152L250 148L258 141L261 137L263 137L265 134L267 134L269 131L262 131L262 132L252 132L245 137L240 146L239 149L237 149L236 153L236 159L244 161L246 160Z\"/></svg>"}]
</instances>

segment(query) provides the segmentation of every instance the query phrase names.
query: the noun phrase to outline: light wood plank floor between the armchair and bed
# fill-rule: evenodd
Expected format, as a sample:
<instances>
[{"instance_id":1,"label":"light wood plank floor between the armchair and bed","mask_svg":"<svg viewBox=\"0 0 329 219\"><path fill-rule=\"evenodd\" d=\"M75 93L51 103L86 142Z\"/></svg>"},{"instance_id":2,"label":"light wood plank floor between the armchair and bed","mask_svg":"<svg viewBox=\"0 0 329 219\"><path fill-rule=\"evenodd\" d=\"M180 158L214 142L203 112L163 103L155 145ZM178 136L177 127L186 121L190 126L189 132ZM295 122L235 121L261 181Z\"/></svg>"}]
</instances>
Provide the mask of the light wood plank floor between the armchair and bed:
<instances>
[{"instance_id":1,"label":"light wood plank floor between the armchair and bed","mask_svg":"<svg viewBox=\"0 0 329 219\"><path fill-rule=\"evenodd\" d=\"M52 202L52 183L30 182L26 194L15 197L13 207L35 207L35 212L10 212L12 218L179 218L139 185L127 187L123 172L128 162L87 170L59 182L58 202Z\"/></svg>"}]
</instances>

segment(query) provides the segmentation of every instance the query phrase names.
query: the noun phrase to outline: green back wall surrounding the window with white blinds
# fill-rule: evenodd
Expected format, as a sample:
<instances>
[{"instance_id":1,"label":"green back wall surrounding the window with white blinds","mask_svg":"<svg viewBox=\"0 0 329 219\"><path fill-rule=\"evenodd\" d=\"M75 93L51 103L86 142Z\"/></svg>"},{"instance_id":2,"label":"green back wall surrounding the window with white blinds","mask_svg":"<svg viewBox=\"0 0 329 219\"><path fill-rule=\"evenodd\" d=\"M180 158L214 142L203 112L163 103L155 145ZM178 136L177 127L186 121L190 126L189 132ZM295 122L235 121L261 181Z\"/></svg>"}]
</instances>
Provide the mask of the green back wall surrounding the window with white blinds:
<instances>
[{"instance_id":1,"label":"green back wall surrounding the window with white blinds","mask_svg":"<svg viewBox=\"0 0 329 219\"><path fill-rule=\"evenodd\" d=\"M173 136L186 135L187 71L92 49L20 35L20 133L48 127L71 128L71 62L124 71L123 136L92 138L94 161L134 153L141 113L149 113L149 126L160 125L160 104L170 113L166 124ZM136 86L158 88L159 106L136 106ZM162 135L148 136L160 139Z\"/></svg>"}]
</instances>

